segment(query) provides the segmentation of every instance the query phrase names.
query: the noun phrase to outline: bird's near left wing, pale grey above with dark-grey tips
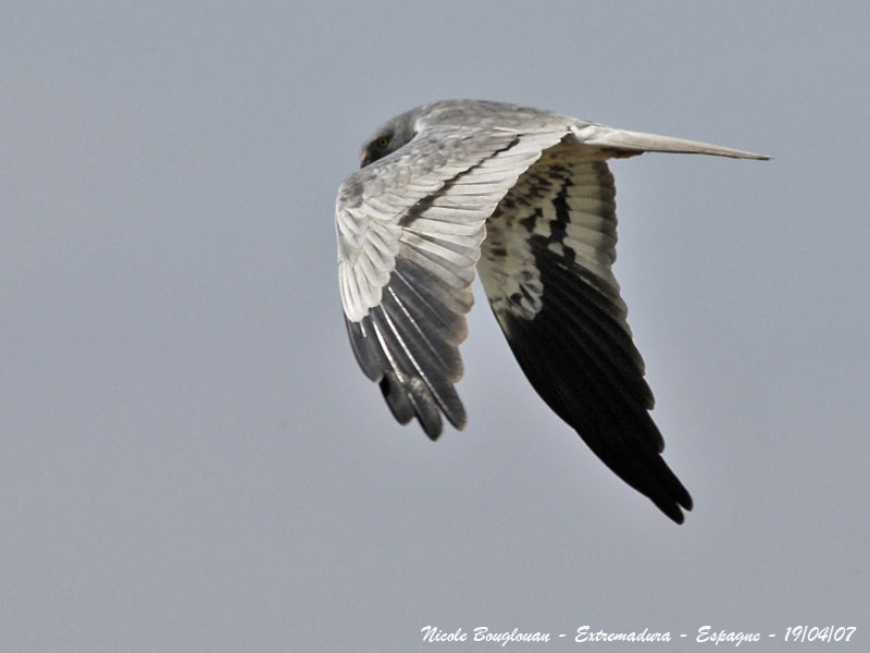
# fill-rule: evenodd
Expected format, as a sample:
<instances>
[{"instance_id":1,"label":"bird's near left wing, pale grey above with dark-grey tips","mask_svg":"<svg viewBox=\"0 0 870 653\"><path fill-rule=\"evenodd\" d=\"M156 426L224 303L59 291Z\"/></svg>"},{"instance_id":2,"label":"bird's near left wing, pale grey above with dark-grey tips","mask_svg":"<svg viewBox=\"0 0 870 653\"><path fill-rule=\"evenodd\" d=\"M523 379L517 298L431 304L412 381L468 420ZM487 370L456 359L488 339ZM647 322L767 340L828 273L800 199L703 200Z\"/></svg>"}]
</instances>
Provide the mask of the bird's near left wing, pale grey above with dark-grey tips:
<instances>
[{"instance_id":1,"label":"bird's near left wing, pale grey above with dark-grey tips","mask_svg":"<svg viewBox=\"0 0 870 653\"><path fill-rule=\"evenodd\" d=\"M465 422L462 375L470 285L484 222L564 135L426 127L351 175L338 192L338 279L350 342L396 419L442 432Z\"/></svg>"}]
</instances>

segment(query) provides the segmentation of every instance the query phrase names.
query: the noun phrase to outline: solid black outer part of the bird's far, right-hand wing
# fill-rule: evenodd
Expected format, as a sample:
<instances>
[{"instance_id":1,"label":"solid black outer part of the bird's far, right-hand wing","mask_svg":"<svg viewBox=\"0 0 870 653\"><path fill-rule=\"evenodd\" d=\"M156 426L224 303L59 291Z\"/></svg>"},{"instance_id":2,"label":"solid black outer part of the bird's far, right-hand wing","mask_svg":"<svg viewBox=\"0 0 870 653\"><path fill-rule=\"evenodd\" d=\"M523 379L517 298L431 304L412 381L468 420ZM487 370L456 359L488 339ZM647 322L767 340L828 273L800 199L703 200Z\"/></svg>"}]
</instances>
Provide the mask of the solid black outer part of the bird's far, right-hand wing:
<instances>
[{"instance_id":1,"label":"solid black outer part of the bird's far, right-hand wing","mask_svg":"<svg viewBox=\"0 0 870 653\"><path fill-rule=\"evenodd\" d=\"M659 453L661 434L646 408L648 386L638 367L618 365L616 344L627 349L630 336L602 317L583 322L580 311L569 312L571 305L544 298L534 320L500 316L526 378L605 465L683 523L692 497ZM592 310L587 305L586 315Z\"/></svg>"}]
</instances>

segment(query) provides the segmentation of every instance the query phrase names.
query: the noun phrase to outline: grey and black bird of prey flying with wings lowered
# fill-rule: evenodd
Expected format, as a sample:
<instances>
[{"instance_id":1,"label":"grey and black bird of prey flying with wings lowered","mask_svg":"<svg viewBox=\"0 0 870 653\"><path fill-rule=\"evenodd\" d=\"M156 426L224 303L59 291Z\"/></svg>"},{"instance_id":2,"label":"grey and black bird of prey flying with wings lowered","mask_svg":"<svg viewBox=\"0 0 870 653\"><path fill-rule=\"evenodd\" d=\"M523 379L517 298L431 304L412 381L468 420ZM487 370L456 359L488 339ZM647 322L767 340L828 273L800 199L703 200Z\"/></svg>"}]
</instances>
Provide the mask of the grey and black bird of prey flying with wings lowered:
<instances>
[{"instance_id":1,"label":"grey and black bird of prey flying with wings lowered","mask_svg":"<svg viewBox=\"0 0 870 653\"><path fill-rule=\"evenodd\" d=\"M692 497L661 457L652 393L611 271L607 161L643 152L769 159L482 100L384 123L336 200L350 344L402 424L457 429L471 284L480 273L517 361L547 405L629 485L682 523Z\"/></svg>"}]
</instances>

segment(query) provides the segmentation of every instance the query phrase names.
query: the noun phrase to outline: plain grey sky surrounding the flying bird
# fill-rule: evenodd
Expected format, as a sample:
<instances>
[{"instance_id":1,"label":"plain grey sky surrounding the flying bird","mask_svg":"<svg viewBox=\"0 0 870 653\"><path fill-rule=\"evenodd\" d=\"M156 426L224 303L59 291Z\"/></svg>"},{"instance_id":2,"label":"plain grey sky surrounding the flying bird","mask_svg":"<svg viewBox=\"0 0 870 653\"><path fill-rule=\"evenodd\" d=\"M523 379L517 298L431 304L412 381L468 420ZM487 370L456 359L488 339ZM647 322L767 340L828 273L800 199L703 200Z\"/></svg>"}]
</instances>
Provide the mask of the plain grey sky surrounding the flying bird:
<instances>
[{"instance_id":1,"label":"plain grey sky surrounding the flying bird","mask_svg":"<svg viewBox=\"0 0 870 653\"><path fill-rule=\"evenodd\" d=\"M868 25L866 2L3 3L0 651L496 649L426 625L691 651L707 624L863 649ZM463 432L398 426L357 368L335 192L375 125L451 97L775 157L612 165L684 526L549 411L480 293Z\"/></svg>"}]
</instances>

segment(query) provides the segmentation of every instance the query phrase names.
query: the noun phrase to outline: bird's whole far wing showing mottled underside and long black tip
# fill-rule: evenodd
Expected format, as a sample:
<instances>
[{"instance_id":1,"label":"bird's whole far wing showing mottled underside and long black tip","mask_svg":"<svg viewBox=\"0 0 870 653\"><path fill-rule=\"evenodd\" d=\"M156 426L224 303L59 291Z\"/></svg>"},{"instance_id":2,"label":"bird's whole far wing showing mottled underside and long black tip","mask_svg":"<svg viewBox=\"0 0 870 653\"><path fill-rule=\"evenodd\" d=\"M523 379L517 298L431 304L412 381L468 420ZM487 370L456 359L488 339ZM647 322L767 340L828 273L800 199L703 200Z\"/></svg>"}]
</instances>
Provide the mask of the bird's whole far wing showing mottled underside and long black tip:
<instances>
[{"instance_id":1,"label":"bird's whole far wing showing mottled underside and long black tip","mask_svg":"<svg viewBox=\"0 0 870 653\"><path fill-rule=\"evenodd\" d=\"M548 149L489 221L477 269L525 375L630 485L682 522L692 498L664 464L652 393L611 272L616 188L598 147Z\"/></svg>"}]
</instances>

